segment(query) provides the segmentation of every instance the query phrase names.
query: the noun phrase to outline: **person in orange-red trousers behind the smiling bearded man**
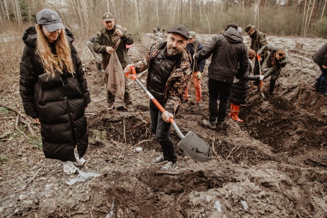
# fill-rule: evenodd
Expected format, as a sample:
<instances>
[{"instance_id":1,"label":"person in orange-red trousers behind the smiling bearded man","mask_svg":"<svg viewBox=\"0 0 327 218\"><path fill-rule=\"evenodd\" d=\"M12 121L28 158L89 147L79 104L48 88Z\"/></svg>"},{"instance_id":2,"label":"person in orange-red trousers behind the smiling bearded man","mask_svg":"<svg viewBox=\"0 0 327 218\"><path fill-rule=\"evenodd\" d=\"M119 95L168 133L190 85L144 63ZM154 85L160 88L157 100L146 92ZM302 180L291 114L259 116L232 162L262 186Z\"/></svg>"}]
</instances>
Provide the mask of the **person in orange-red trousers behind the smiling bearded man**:
<instances>
[{"instance_id":1,"label":"person in orange-red trousers behind the smiling bearded man","mask_svg":"<svg viewBox=\"0 0 327 218\"><path fill-rule=\"evenodd\" d=\"M186 45L186 49L190 52L191 57L193 57L195 53L203 49L203 45L198 40L196 40L196 33L193 31L190 31L189 44ZM204 66L205 66L205 59L201 61L194 61L194 59L192 58L191 67L193 72L195 100L199 108L203 108L203 101L201 97L201 78L202 78L202 72L204 70ZM189 90L189 85L187 85L185 89L184 102L188 102L189 100L188 90Z\"/></svg>"}]
</instances>

